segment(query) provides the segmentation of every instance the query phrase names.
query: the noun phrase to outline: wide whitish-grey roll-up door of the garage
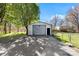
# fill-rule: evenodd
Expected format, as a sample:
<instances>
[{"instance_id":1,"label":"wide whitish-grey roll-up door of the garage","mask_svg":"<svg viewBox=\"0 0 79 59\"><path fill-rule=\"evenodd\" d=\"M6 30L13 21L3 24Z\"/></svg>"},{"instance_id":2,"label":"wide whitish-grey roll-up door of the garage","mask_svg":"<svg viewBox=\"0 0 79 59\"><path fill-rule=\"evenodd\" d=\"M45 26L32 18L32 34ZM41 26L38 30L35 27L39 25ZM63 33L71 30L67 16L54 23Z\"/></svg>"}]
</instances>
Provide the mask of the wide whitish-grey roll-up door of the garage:
<instances>
[{"instance_id":1,"label":"wide whitish-grey roll-up door of the garage","mask_svg":"<svg viewBox=\"0 0 79 59\"><path fill-rule=\"evenodd\" d=\"M33 25L33 35L46 35L46 26Z\"/></svg>"}]
</instances>

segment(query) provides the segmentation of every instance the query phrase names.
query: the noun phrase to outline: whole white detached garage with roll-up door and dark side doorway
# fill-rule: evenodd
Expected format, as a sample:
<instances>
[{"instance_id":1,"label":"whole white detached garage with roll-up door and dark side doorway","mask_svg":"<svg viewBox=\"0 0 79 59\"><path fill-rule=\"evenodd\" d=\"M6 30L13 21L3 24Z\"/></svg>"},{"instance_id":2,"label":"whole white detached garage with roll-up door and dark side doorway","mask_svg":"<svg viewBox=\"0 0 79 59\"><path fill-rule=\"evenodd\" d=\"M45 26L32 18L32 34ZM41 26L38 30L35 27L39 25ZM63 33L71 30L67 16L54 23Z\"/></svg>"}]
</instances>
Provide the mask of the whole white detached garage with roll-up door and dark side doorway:
<instances>
[{"instance_id":1,"label":"whole white detached garage with roll-up door and dark side doorway","mask_svg":"<svg viewBox=\"0 0 79 59\"><path fill-rule=\"evenodd\" d=\"M52 25L45 22L28 25L28 35L52 35Z\"/></svg>"}]
</instances>

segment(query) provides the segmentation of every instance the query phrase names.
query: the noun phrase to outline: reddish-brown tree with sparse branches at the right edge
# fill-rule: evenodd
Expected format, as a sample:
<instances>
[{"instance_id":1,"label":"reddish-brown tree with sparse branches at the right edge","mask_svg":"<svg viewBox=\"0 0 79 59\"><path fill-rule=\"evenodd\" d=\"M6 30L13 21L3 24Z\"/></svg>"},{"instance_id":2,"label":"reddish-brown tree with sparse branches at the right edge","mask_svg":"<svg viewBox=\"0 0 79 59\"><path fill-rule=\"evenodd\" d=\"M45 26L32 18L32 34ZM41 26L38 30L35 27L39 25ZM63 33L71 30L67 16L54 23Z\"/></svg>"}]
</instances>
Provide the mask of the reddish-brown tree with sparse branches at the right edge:
<instances>
[{"instance_id":1,"label":"reddish-brown tree with sparse branches at the right edge","mask_svg":"<svg viewBox=\"0 0 79 59\"><path fill-rule=\"evenodd\" d=\"M67 20L75 26L76 32L79 32L79 6L69 10Z\"/></svg>"}]
</instances>

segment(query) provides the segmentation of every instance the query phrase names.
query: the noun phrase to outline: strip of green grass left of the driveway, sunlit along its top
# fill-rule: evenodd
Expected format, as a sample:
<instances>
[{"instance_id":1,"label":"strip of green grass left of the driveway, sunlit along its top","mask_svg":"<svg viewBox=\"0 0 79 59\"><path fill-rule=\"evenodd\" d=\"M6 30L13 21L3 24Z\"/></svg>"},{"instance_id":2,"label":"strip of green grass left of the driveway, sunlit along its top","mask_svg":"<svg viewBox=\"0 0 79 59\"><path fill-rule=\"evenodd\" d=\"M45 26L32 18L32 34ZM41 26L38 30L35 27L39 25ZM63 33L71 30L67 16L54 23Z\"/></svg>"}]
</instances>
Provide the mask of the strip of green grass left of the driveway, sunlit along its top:
<instances>
[{"instance_id":1,"label":"strip of green grass left of the driveway, sunlit along its top","mask_svg":"<svg viewBox=\"0 0 79 59\"><path fill-rule=\"evenodd\" d=\"M9 33L9 34L2 34L0 35L0 43L6 43L8 41L16 40L19 37L26 36L25 32L16 32L16 33Z\"/></svg>"}]
</instances>

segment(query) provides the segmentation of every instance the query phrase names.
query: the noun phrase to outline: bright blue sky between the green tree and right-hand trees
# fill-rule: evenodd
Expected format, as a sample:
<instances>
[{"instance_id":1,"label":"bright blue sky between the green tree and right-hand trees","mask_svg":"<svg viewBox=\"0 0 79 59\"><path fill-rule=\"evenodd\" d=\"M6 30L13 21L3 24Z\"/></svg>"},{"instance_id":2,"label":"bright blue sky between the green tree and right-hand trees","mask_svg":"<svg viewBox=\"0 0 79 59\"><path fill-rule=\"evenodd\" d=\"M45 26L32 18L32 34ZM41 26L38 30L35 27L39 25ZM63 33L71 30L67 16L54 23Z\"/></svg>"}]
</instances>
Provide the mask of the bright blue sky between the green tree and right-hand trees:
<instances>
[{"instance_id":1,"label":"bright blue sky between the green tree and right-hand trees","mask_svg":"<svg viewBox=\"0 0 79 59\"><path fill-rule=\"evenodd\" d=\"M40 21L50 21L54 15L62 18L67 15L68 10L78 5L77 3L40 3Z\"/></svg>"}]
</instances>

